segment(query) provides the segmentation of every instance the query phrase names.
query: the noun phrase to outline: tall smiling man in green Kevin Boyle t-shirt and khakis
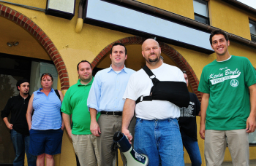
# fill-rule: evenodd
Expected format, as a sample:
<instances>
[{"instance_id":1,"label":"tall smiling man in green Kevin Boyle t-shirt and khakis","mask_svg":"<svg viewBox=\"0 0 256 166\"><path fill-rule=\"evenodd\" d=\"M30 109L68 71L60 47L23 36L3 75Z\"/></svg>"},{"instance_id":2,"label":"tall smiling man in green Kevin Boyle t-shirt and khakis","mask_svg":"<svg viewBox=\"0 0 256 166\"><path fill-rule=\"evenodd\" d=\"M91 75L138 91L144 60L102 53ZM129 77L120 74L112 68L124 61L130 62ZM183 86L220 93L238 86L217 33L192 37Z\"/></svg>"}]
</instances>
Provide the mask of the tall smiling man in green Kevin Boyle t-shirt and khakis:
<instances>
[{"instance_id":1,"label":"tall smiling man in green Kevin Boyle t-shirt and khakis","mask_svg":"<svg viewBox=\"0 0 256 166\"><path fill-rule=\"evenodd\" d=\"M247 58L229 54L225 32L211 33L210 43L217 60L203 68L198 87L206 165L221 165L227 144L233 165L249 165L248 134L256 126L255 68Z\"/></svg>"}]
</instances>

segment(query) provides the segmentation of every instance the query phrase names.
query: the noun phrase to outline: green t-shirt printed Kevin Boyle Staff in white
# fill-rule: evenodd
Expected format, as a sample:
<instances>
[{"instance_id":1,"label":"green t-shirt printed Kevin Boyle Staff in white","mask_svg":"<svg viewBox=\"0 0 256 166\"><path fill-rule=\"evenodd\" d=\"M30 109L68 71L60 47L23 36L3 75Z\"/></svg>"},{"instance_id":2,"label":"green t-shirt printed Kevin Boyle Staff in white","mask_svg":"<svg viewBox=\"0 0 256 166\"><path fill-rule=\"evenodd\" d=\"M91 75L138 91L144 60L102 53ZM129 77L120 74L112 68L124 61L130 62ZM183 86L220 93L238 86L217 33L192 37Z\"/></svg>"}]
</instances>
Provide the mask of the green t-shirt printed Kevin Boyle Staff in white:
<instances>
[{"instance_id":1,"label":"green t-shirt printed Kevin Boyle Staff in white","mask_svg":"<svg viewBox=\"0 0 256 166\"><path fill-rule=\"evenodd\" d=\"M248 87L255 83L255 68L247 58L232 55L205 66L198 91L210 95L206 130L245 129L250 113Z\"/></svg>"}]
</instances>

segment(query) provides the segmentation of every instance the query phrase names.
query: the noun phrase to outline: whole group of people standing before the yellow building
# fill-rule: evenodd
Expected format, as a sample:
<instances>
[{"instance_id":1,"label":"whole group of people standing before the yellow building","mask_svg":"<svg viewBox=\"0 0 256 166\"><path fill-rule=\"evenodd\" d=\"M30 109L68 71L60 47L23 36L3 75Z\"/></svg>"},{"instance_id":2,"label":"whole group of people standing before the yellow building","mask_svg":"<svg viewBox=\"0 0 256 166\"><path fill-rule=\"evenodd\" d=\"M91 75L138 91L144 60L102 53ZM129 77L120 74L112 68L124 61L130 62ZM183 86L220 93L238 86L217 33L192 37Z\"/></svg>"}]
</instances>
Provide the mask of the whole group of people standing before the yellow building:
<instances>
[{"instance_id":1,"label":"whole group of people standing before the yellow building","mask_svg":"<svg viewBox=\"0 0 256 166\"><path fill-rule=\"evenodd\" d=\"M200 137L205 139L206 165L221 165L227 138L233 165L248 166L248 133L256 127L255 69L247 58L229 54L230 42L223 31L214 31L210 43L217 60L203 68L198 87L203 92L202 103L189 92L189 106L183 108L160 98L161 94L155 95L157 85L153 79L178 82L178 87L164 87L173 89L167 95L176 96L177 89L187 90L188 77L186 71L163 63L161 48L154 39L143 42L147 69L137 72L124 65L127 49L121 43L113 44L110 50L110 67L95 77L91 63L80 61L78 83L69 87L64 97L51 88L50 74L42 74L42 88L31 97L29 82L18 82L20 95L10 98L1 113L15 146L14 165L21 161L25 151L22 149L18 154L21 146L15 145L18 143L14 141L14 133L20 133L23 140L30 133L29 153L37 156L37 165L44 165L45 157L47 165L54 165L53 155L61 152L64 126L80 165L115 165L111 145L116 131L124 133L138 153L148 156L149 166L184 166L183 146L192 165L201 165L196 126L196 116L201 116ZM146 70L154 76L149 76ZM35 161L27 151L28 141L23 142L28 161ZM123 154L121 158L126 165Z\"/></svg>"}]
</instances>

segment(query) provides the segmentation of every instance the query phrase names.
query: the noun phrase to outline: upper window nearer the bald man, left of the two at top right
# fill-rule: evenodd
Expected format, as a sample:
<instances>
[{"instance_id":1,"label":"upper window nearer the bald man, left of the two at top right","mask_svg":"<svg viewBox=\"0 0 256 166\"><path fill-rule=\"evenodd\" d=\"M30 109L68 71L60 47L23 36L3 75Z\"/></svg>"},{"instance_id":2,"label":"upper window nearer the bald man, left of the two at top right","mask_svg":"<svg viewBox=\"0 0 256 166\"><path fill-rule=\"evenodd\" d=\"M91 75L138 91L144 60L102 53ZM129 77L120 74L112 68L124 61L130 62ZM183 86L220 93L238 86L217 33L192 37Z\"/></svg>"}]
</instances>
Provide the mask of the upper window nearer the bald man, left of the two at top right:
<instances>
[{"instance_id":1,"label":"upper window nearer the bald man, left of the two at top right","mask_svg":"<svg viewBox=\"0 0 256 166\"><path fill-rule=\"evenodd\" d=\"M200 23L209 24L207 1L194 0L193 5L194 5L195 20L197 20Z\"/></svg>"}]
</instances>

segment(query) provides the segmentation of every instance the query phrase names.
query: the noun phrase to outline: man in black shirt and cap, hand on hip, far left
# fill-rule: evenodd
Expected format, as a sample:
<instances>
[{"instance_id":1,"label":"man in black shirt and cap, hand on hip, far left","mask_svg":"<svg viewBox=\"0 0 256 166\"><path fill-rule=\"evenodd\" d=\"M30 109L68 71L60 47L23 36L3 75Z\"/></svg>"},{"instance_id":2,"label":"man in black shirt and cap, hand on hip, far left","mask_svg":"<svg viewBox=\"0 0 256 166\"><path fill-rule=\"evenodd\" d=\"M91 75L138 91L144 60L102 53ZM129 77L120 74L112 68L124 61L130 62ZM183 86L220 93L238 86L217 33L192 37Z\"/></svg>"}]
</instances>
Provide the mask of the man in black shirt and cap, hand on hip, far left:
<instances>
[{"instance_id":1,"label":"man in black shirt and cap, hand on hip, far left","mask_svg":"<svg viewBox=\"0 0 256 166\"><path fill-rule=\"evenodd\" d=\"M26 110L29 104L29 82L20 79L16 84L20 94L10 98L1 117L5 125L11 130L11 139L15 150L14 166L24 165L25 151L29 166L36 166L37 157L29 154L29 126L26 122ZM11 114L10 122L8 116Z\"/></svg>"}]
</instances>

